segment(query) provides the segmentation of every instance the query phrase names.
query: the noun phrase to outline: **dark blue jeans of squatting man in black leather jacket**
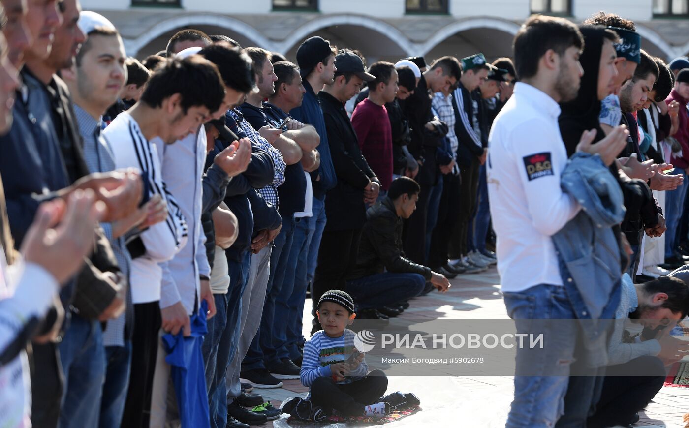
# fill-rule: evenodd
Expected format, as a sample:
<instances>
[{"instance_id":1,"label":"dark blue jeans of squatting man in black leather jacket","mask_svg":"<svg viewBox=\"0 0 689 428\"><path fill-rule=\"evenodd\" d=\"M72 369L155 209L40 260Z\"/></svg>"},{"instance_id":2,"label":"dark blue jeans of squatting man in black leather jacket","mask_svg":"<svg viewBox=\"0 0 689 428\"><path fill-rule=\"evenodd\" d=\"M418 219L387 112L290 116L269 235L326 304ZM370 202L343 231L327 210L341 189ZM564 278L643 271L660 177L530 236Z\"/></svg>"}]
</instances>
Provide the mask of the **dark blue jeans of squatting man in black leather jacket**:
<instances>
[{"instance_id":1,"label":"dark blue jeans of squatting man in black leather jacket","mask_svg":"<svg viewBox=\"0 0 689 428\"><path fill-rule=\"evenodd\" d=\"M418 296L424 291L426 279L420 274L383 272L347 281L347 291L358 309L392 305Z\"/></svg>"}]
</instances>

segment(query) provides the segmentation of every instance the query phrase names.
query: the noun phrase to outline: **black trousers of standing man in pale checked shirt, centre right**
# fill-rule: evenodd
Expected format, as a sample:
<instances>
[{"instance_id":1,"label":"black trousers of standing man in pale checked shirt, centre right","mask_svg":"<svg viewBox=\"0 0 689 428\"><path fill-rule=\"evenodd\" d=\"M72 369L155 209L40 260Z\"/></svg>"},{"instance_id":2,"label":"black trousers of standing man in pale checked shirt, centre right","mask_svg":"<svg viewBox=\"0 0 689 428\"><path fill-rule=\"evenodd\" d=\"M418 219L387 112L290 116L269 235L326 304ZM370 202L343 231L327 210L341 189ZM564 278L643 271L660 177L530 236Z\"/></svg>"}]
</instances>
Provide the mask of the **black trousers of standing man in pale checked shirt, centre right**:
<instances>
[{"instance_id":1,"label":"black trousers of standing man in pale checked shirt, centre right","mask_svg":"<svg viewBox=\"0 0 689 428\"><path fill-rule=\"evenodd\" d=\"M428 266L435 272L447 263L448 245L451 234L457 224L457 213L460 211L460 177L453 174L442 176L442 196L438 207L438 223L431 235L431 251Z\"/></svg>"}]
</instances>

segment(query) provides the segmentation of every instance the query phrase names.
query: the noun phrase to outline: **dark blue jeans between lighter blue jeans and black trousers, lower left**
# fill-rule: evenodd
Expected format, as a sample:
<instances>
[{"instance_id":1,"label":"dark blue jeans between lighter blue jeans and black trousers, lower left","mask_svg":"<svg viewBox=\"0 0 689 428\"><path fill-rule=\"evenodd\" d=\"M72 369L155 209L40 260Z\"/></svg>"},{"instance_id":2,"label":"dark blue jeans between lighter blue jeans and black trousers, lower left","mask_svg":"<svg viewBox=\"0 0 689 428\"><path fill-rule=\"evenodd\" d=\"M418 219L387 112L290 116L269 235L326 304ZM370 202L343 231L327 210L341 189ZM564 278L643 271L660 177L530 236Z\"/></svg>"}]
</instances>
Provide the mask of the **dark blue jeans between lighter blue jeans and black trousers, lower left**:
<instances>
[{"instance_id":1,"label":"dark blue jeans between lighter blue jeans and black trousers, lower left","mask_svg":"<svg viewBox=\"0 0 689 428\"><path fill-rule=\"evenodd\" d=\"M132 342L127 340L124 346L106 346L105 358L107 372L98 426L99 428L119 428L125 411L127 387L129 387L132 368Z\"/></svg>"}]
</instances>

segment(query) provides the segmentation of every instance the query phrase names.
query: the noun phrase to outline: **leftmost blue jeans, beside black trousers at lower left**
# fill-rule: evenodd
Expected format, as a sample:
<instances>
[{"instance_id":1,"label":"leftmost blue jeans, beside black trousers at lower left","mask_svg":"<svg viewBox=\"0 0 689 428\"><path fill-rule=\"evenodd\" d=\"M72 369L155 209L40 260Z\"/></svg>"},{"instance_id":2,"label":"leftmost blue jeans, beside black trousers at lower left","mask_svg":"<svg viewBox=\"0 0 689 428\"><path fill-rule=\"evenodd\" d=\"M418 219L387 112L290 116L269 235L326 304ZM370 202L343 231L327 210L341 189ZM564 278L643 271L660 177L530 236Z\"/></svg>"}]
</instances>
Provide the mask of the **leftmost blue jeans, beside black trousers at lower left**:
<instances>
[{"instance_id":1,"label":"leftmost blue jeans, beside black trousers at lower left","mask_svg":"<svg viewBox=\"0 0 689 428\"><path fill-rule=\"evenodd\" d=\"M105 382L105 347L101 323L72 314L58 345L65 375L59 427L96 427Z\"/></svg>"}]
</instances>

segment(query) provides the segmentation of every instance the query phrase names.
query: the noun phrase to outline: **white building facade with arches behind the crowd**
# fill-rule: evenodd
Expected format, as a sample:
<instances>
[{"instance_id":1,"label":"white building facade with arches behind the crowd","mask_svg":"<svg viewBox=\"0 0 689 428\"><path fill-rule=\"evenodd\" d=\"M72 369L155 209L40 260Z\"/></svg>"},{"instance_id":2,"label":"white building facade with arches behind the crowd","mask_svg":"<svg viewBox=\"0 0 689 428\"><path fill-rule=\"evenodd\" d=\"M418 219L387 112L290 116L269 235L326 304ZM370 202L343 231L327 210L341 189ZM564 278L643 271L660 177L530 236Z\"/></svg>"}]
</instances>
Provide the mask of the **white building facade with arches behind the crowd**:
<instances>
[{"instance_id":1,"label":"white building facade with arches behind the crowd","mask_svg":"<svg viewBox=\"0 0 689 428\"><path fill-rule=\"evenodd\" d=\"M127 54L165 49L184 28L224 34L294 59L319 35L371 63L423 55L509 56L521 23L542 12L581 22L599 10L635 21L642 48L670 60L689 52L689 0L81 0L120 30Z\"/></svg>"}]
</instances>

